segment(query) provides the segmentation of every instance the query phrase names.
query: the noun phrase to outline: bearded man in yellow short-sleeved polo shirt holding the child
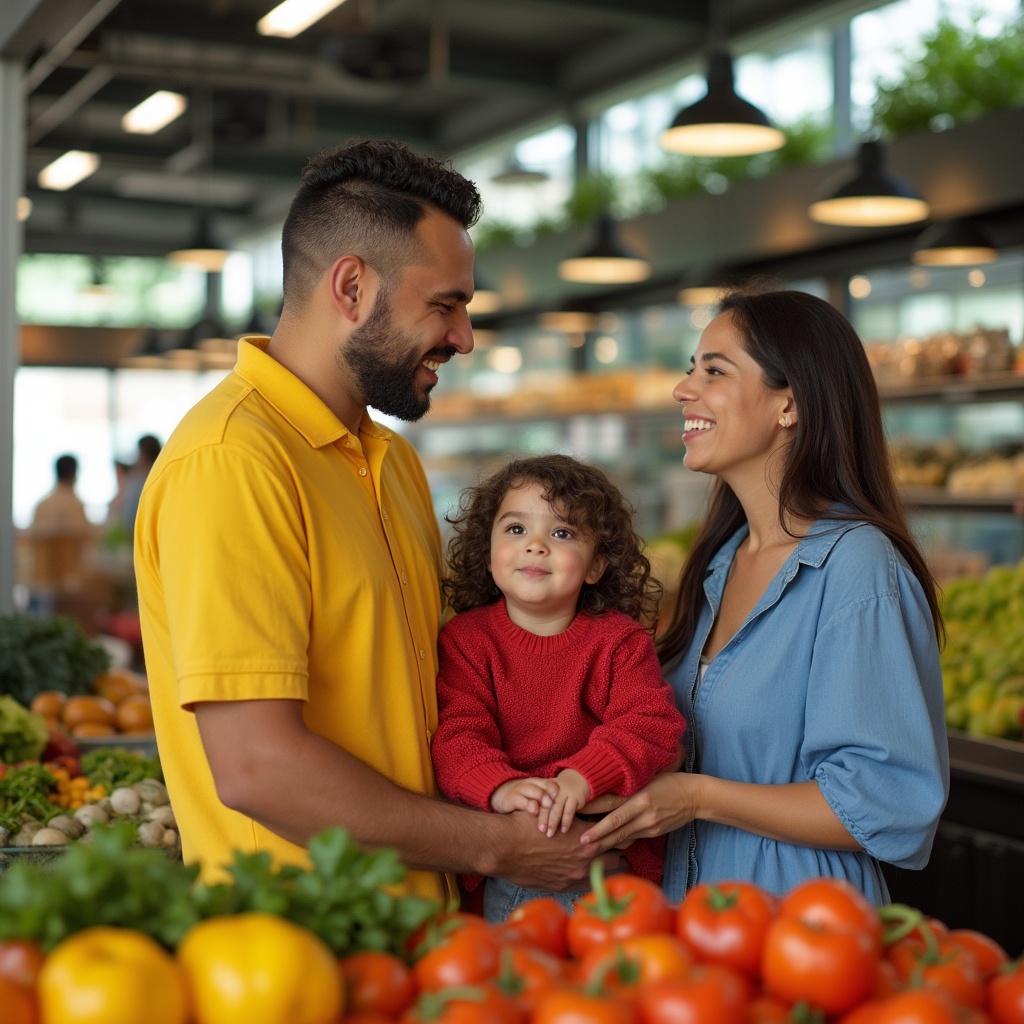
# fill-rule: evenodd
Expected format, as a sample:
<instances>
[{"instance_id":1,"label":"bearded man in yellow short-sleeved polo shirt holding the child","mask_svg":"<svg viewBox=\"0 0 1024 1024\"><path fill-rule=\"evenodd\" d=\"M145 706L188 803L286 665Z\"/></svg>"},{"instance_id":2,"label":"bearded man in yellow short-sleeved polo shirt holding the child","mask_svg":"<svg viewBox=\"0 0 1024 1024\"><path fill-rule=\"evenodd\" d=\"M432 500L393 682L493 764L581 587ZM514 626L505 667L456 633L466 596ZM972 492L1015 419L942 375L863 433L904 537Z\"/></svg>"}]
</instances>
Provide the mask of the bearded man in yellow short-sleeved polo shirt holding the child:
<instances>
[{"instance_id":1,"label":"bearded man in yellow short-sleeved polo shirt holding the child","mask_svg":"<svg viewBox=\"0 0 1024 1024\"><path fill-rule=\"evenodd\" d=\"M282 234L273 337L182 420L151 471L135 565L157 739L188 861L305 861L344 825L409 888L451 874L585 885L582 828L433 797L440 537L419 460L367 407L416 420L473 347L475 186L396 142L306 167Z\"/></svg>"}]
</instances>

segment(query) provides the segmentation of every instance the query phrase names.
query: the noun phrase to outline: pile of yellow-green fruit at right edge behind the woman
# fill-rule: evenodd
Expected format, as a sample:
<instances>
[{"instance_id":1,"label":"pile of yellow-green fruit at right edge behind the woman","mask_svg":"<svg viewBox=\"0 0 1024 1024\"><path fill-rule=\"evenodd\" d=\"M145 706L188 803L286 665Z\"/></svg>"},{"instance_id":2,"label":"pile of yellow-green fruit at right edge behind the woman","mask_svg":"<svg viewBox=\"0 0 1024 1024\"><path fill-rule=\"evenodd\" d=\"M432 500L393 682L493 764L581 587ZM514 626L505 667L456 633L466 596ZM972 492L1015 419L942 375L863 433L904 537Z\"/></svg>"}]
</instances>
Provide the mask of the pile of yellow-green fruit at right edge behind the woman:
<instances>
[{"instance_id":1,"label":"pile of yellow-green fruit at right edge behind the woman","mask_svg":"<svg viewBox=\"0 0 1024 1024\"><path fill-rule=\"evenodd\" d=\"M946 724L1024 738L1024 560L946 584L942 614Z\"/></svg>"}]
</instances>

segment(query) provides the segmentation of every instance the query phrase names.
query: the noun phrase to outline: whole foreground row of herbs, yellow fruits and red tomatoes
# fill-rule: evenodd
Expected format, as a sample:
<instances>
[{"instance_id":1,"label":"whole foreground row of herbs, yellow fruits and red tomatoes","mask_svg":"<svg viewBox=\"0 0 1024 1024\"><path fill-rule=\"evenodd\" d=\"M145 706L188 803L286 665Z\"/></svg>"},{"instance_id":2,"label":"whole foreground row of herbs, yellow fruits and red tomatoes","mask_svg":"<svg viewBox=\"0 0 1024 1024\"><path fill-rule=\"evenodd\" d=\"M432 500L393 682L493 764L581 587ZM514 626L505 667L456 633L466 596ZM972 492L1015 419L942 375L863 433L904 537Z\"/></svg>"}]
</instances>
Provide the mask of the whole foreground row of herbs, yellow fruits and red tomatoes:
<instances>
[{"instance_id":1,"label":"whole foreground row of herbs, yellow fruits and red tomatoes","mask_svg":"<svg viewBox=\"0 0 1024 1024\"><path fill-rule=\"evenodd\" d=\"M308 871L231 881L97 835L0 879L0 1015L17 1024L1024 1024L1024 958L815 879L783 897L634 876L502 925L394 897L392 851L342 829ZM77 857L73 863L72 857ZM17 871L17 873L15 873Z\"/></svg>"}]
</instances>

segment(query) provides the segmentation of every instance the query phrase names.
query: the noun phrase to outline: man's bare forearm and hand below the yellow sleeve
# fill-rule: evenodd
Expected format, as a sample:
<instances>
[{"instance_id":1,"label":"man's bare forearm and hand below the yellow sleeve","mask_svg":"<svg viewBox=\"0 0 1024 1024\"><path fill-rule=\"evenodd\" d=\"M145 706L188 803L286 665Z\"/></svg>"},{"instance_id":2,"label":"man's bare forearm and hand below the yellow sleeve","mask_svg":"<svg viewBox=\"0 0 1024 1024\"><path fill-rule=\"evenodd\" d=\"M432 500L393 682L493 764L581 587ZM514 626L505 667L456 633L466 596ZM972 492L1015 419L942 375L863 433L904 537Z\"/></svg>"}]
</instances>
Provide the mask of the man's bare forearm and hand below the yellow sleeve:
<instances>
[{"instance_id":1,"label":"man's bare forearm and hand below the yellow sleeve","mask_svg":"<svg viewBox=\"0 0 1024 1024\"><path fill-rule=\"evenodd\" d=\"M300 700L211 701L196 719L221 802L305 846L343 825L365 847L393 847L412 869L496 874L530 888L586 888L584 827L548 838L523 811L488 814L410 793L310 732Z\"/></svg>"}]
</instances>

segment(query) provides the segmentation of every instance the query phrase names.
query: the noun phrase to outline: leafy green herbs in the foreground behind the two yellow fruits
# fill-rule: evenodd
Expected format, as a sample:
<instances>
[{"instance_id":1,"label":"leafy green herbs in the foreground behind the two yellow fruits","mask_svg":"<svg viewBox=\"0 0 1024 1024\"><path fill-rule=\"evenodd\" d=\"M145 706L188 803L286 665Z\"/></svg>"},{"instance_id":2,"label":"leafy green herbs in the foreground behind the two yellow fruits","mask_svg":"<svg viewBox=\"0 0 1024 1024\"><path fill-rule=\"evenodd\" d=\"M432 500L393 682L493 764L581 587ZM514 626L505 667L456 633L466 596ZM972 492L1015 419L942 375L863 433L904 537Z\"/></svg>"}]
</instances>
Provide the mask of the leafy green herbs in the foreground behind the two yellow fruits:
<instances>
[{"instance_id":1,"label":"leafy green herbs in the foreground behind the two yellow fruits","mask_svg":"<svg viewBox=\"0 0 1024 1024\"><path fill-rule=\"evenodd\" d=\"M197 883L198 867L161 850L134 846L135 829L96 826L91 844L73 844L47 865L16 863L0 876L0 939L29 938L44 949L93 925L132 928L176 948L197 922L262 911L318 935L336 954L400 952L437 906L396 895L406 878L393 850L369 853L343 828L309 843L312 866L272 867L265 853L236 853L230 881Z\"/></svg>"}]
</instances>

